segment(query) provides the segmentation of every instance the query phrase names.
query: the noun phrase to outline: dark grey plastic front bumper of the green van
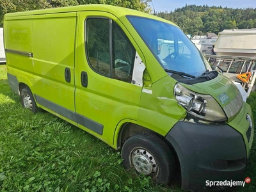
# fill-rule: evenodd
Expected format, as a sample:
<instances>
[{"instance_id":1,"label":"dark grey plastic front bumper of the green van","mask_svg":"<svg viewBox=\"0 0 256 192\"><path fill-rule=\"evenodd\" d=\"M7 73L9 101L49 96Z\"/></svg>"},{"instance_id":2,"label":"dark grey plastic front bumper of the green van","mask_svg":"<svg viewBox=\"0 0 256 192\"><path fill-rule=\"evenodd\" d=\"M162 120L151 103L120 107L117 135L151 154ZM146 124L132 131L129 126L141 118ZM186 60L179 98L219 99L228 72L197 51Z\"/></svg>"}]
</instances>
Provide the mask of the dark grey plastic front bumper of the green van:
<instances>
[{"instance_id":1,"label":"dark grey plastic front bumper of the green van","mask_svg":"<svg viewBox=\"0 0 256 192\"><path fill-rule=\"evenodd\" d=\"M247 110L240 112L243 113L240 115L243 118L246 116L245 111ZM248 125L244 125L244 120L240 119L239 122L237 126ZM179 158L182 189L189 191L214 189L205 185L206 180L244 180L248 152L250 153L248 141L244 141L244 138L246 131L239 132L227 124L178 122L168 132L166 140L172 144ZM227 187L215 189L225 188Z\"/></svg>"}]
</instances>

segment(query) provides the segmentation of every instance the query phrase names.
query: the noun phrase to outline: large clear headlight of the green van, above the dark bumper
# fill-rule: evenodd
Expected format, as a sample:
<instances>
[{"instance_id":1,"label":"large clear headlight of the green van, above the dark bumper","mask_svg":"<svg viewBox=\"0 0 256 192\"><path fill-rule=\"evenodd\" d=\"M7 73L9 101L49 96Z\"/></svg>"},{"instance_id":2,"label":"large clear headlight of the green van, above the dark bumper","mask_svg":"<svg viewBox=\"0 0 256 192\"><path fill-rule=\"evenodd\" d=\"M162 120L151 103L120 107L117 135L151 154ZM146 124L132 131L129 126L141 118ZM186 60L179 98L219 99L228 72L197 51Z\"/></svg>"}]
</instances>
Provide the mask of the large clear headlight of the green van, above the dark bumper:
<instances>
[{"instance_id":1,"label":"large clear headlight of the green van, above the dark bumper","mask_svg":"<svg viewBox=\"0 0 256 192\"><path fill-rule=\"evenodd\" d=\"M227 120L223 109L211 95L192 92L179 83L175 85L174 95L179 104L194 118L210 122Z\"/></svg>"}]
</instances>

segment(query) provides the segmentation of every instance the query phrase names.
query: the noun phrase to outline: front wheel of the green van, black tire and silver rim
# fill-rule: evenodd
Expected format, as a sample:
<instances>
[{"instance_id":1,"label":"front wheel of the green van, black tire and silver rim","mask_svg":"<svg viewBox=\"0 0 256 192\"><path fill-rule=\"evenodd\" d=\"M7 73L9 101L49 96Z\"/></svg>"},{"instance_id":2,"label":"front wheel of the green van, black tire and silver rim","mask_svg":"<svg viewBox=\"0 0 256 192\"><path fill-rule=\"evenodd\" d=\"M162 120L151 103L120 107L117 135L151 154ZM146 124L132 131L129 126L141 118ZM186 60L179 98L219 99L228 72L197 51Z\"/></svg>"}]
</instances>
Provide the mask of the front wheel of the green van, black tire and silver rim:
<instances>
[{"instance_id":1,"label":"front wheel of the green van, black tire and silver rim","mask_svg":"<svg viewBox=\"0 0 256 192\"><path fill-rule=\"evenodd\" d=\"M134 168L137 173L149 175L158 184L168 184L175 172L172 150L155 134L135 134L126 140L122 159L125 168Z\"/></svg>"}]
</instances>

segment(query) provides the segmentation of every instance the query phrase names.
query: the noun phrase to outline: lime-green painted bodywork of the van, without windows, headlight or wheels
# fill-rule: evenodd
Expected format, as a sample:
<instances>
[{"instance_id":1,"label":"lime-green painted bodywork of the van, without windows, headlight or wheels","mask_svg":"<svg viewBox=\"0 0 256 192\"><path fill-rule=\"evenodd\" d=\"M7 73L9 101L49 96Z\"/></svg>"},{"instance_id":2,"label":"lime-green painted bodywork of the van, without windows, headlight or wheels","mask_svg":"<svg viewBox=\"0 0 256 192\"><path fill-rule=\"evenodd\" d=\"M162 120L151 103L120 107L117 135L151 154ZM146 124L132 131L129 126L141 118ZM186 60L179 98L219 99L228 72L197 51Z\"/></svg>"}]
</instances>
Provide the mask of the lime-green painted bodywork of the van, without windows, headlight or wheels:
<instances>
[{"instance_id":1,"label":"lime-green painted bodywork of the van, without windows, headlight or wheels","mask_svg":"<svg viewBox=\"0 0 256 192\"><path fill-rule=\"evenodd\" d=\"M166 136L173 125L186 116L186 110L173 95L177 81L164 72L126 15L168 22L154 15L102 4L8 13L4 16L4 48L33 53L33 57L28 57L7 52L8 73L16 76L19 83L27 84L34 95L72 115L86 117L102 125L103 132L99 134L79 124L75 118L72 120L38 104L113 148L118 147L120 129L124 124L131 122ZM102 76L88 65L84 21L92 16L107 17L122 28L146 66L143 86ZM70 83L65 81L65 68L70 70ZM82 72L87 74L87 87L82 86ZM236 86L221 75L211 81L183 86L196 93L211 95L222 108L238 93ZM225 103L219 99L222 93L228 96ZM228 125L241 132L244 140L246 127L248 129L244 118L247 113L252 116L250 107L244 103L239 113L228 120ZM251 146L252 141L246 144L247 152Z\"/></svg>"}]
</instances>

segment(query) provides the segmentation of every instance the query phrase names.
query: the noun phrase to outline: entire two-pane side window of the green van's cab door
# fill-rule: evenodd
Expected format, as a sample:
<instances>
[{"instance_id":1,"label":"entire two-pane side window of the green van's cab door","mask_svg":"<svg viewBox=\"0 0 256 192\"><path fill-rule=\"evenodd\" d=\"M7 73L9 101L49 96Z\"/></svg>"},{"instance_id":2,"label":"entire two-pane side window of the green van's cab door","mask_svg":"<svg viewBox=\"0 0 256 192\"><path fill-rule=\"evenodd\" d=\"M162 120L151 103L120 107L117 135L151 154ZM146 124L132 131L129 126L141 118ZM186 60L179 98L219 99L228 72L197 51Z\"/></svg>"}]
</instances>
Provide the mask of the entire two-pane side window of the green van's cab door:
<instances>
[{"instance_id":1,"label":"entire two-pane side window of the green van's cab door","mask_svg":"<svg viewBox=\"0 0 256 192\"><path fill-rule=\"evenodd\" d=\"M116 22L86 19L86 51L95 72L131 83L136 50Z\"/></svg>"}]
</instances>

